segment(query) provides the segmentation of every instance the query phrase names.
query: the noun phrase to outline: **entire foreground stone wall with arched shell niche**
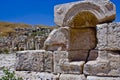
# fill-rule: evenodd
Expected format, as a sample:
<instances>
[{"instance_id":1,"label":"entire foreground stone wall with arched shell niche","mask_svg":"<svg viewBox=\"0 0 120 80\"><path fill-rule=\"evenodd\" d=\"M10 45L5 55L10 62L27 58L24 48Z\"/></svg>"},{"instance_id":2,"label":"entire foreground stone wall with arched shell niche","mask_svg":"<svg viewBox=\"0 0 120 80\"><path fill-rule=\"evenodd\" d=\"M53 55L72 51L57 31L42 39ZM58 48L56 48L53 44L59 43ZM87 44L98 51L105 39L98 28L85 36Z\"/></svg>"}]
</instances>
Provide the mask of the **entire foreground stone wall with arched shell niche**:
<instances>
[{"instance_id":1,"label":"entire foreground stone wall with arched shell niche","mask_svg":"<svg viewBox=\"0 0 120 80\"><path fill-rule=\"evenodd\" d=\"M44 42L45 50L17 52L16 70L48 72L39 80L120 80L115 5L84 0L57 5L54 12L59 28Z\"/></svg>"}]
</instances>

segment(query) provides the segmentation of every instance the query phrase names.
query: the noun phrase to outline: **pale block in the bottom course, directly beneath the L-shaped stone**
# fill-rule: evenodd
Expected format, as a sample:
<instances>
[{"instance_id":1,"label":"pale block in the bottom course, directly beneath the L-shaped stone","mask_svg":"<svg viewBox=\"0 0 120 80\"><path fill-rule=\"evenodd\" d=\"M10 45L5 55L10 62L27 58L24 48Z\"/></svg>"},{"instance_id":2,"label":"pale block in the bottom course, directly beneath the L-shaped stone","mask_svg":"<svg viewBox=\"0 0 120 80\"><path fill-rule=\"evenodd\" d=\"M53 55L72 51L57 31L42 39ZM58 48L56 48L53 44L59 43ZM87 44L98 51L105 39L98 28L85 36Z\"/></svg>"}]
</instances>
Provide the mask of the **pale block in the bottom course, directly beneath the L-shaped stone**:
<instances>
[{"instance_id":1,"label":"pale block in the bottom course, directly beneath the L-shaped stone","mask_svg":"<svg viewBox=\"0 0 120 80\"><path fill-rule=\"evenodd\" d=\"M59 80L86 80L84 75L61 74Z\"/></svg>"}]
</instances>

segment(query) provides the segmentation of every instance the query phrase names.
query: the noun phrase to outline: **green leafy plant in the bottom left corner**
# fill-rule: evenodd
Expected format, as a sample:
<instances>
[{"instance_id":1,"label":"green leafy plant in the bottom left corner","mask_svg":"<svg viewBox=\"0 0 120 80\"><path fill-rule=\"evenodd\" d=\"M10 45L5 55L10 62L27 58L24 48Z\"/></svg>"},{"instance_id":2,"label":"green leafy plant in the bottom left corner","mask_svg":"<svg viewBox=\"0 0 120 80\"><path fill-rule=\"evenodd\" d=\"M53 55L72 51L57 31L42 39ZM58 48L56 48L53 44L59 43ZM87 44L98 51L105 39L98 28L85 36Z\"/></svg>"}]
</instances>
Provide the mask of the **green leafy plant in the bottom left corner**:
<instances>
[{"instance_id":1,"label":"green leafy plant in the bottom left corner","mask_svg":"<svg viewBox=\"0 0 120 80\"><path fill-rule=\"evenodd\" d=\"M0 80L23 80L21 77L15 77L15 72L10 72L8 69L3 69L4 76Z\"/></svg>"}]
</instances>

